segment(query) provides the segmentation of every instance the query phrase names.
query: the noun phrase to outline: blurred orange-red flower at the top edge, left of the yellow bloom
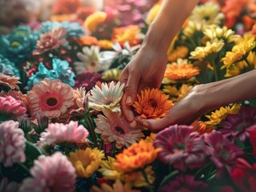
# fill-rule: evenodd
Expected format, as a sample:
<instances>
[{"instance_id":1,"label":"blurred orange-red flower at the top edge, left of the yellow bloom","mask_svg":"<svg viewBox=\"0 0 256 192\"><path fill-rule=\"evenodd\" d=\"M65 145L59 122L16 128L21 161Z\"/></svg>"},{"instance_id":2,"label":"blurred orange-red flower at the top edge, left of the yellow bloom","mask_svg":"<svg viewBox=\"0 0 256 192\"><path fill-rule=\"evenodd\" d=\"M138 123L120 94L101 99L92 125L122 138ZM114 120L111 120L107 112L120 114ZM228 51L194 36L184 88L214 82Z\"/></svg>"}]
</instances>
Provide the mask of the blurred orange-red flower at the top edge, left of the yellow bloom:
<instances>
[{"instance_id":1,"label":"blurred orange-red flower at the top edge, left of the yellow bloom","mask_svg":"<svg viewBox=\"0 0 256 192\"><path fill-rule=\"evenodd\" d=\"M53 14L75 14L81 5L80 0L57 0L52 6Z\"/></svg>"}]
</instances>

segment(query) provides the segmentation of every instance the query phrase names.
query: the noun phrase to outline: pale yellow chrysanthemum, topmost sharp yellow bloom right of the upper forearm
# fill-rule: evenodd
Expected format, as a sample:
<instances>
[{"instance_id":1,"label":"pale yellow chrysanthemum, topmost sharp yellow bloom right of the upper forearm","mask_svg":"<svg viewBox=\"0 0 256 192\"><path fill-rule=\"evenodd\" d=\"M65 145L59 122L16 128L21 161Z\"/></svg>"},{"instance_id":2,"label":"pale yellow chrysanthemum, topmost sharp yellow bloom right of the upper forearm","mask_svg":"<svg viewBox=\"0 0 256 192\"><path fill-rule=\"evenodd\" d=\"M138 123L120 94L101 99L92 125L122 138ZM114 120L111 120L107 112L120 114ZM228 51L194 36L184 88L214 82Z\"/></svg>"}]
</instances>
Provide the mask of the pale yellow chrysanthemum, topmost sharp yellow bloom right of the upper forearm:
<instances>
[{"instance_id":1,"label":"pale yellow chrysanthemum, topmost sharp yellow bloom right of the upper forearm","mask_svg":"<svg viewBox=\"0 0 256 192\"><path fill-rule=\"evenodd\" d=\"M204 30L204 34L210 40L217 38L223 39L225 42L236 42L240 35L234 34L234 30L228 29L226 26L220 27L217 25L207 26Z\"/></svg>"}]
</instances>

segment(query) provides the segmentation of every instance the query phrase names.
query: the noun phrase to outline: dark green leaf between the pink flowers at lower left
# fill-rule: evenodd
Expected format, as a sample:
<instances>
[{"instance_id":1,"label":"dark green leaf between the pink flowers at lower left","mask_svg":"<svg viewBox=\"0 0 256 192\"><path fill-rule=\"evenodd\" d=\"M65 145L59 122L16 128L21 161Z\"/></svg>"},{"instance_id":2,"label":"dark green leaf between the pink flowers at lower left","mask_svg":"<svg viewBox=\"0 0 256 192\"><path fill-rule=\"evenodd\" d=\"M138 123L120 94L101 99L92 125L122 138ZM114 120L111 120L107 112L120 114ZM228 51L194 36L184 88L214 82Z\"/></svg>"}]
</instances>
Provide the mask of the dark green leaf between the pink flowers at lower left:
<instances>
[{"instance_id":1,"label":"dark green leaf between the pink flowers at lower left","mask_svg":"<svg viewBox=\"0 0 256 192\"><path fill-rule=\"evenodd\" d=\"M38 159L42 152L41 150L39 150L39 147L35 146L32 142L26 141L25 154L26 162L24 162L23 164L26 167L30 168L31 166L33 166L35 159Z\"/></svg>"}]
</instances>

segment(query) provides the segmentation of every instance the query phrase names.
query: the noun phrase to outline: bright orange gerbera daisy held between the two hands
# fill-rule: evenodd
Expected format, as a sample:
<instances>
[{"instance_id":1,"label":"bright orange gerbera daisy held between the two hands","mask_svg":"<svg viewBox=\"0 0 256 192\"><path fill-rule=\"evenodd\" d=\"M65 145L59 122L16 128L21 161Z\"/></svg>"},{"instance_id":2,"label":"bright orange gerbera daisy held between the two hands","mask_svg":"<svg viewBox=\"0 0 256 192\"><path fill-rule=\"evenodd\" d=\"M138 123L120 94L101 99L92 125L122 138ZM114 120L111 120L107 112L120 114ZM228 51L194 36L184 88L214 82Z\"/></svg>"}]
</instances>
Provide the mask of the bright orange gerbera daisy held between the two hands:
<instances>
[{"instance_id":1,"label":"bright orange gerbera daisy held between the two hands","mask_svg":"<svg viewBox=\"0 0 256 192\"><path fill-rule=\"evenodd\" d=\"M160 119L173 107L173 102L169 101L169 96L163 94L161 90L148 89L141 90L137 94L138 101L132 105L141 118Z\"/></svg>"}]
</instances>

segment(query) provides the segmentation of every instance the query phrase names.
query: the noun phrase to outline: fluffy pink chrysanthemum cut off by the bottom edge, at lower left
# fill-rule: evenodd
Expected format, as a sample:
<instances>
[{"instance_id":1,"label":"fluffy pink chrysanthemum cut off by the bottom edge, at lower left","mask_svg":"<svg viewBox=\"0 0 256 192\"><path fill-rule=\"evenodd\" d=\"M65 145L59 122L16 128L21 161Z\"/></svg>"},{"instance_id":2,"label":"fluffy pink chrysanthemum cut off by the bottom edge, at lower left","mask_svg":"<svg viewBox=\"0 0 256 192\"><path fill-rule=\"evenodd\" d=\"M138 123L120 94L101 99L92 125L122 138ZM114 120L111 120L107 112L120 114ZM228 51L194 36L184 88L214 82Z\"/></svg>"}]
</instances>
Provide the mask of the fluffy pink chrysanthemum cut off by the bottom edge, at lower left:
<instances>
[{"instance_id":1,"label":"fluffy pink chrysanthemum cut off by the bottom edge, at lower left","mask_svg":"<svg viewBox=\"0 0 256 192\"><path fill-rule=\"evenodd\" d=\"M57 152L51 157L41 155L30 169L33 178L22 182L20 192L52 191L73 192L75 190L75 168L67 156Z\"/></svg>"}]
</instances>

